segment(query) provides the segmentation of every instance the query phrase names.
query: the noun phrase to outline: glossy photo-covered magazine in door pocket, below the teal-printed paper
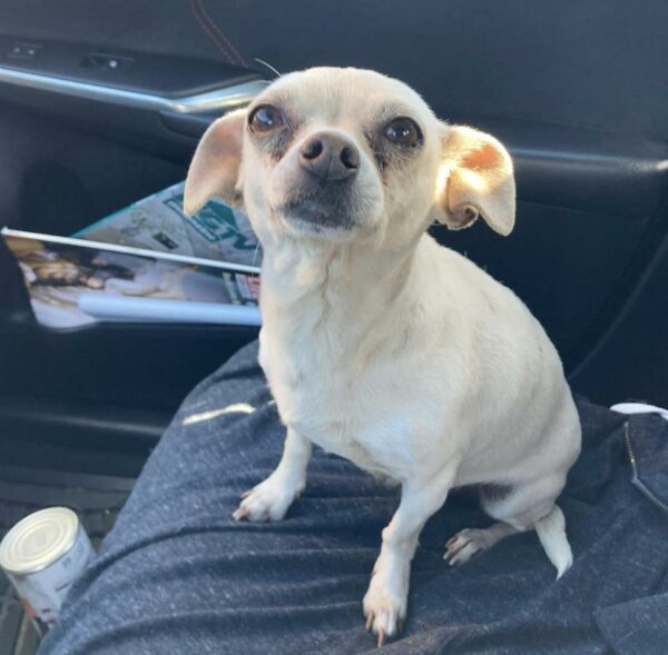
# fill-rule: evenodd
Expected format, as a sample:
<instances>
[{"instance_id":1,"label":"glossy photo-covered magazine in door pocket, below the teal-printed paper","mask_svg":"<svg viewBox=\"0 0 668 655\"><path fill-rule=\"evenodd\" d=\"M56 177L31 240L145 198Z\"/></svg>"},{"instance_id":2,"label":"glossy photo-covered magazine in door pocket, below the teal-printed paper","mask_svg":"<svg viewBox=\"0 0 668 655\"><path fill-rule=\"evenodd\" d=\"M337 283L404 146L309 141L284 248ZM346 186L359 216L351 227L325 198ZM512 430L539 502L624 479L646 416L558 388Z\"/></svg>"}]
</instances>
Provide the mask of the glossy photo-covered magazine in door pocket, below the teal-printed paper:
<instances>
[{"instance_id":1,"label":"glossy photo-covered magazine in door pocket, below the teal-printed paper","mask_svg":"<svg viewBox=\"0 0 668 655\"><path fill-rule=\"evenodd\" d=\"M256 267L7 228L0 234L45 326L261 322Z\"/></svg>"}]
</instances>

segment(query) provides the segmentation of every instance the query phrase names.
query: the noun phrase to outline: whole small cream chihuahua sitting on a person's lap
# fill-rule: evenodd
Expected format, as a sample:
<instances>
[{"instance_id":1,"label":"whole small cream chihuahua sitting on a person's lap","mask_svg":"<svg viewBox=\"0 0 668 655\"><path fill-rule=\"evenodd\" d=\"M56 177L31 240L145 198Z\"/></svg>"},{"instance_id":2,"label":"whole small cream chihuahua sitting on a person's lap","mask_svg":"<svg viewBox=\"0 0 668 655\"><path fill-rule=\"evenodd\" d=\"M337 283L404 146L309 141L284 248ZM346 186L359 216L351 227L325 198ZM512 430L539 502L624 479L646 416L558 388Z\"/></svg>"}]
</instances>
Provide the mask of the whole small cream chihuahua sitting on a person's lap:
<instances>
[{"instance_id":1,"label":"whole small cream chihuahua sitting on a person's lap","mask_svg":"<svg viewBox=\"0 0 668 655\"><path fill-rule=\"evenodd\" d=\"M497 523L454 535L451 565L536 529L563 574L556 499L580 424L561 360L512 291L425 234L479 216L511 232L503 146L441 122L400 81L315 68L212 125L186 212L212 197L244 208L263 246L259 363L287 428L234 517L283 518L312 444L401 484L363 601L379 645L401 629L420 532L453 487L479 486Z\"/></svg>"}]
</instances>

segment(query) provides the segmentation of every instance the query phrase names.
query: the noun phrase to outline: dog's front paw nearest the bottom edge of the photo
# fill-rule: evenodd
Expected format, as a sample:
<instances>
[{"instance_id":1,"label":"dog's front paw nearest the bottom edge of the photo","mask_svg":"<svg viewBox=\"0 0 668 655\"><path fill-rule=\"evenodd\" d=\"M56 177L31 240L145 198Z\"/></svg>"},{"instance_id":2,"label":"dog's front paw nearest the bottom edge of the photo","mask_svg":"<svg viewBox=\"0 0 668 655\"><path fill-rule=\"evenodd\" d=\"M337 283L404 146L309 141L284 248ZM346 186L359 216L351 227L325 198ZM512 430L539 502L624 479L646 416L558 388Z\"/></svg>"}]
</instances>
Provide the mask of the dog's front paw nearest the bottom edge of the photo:
<instances>
[{"instance_id":1,"label":"dog's front paw nearest the bottom edge of the photo","mask_svg":"<svg viewBox=\"0 0 668 655\"><path fill-rule=\"evenodd\" d=\"M379 636L379 648L387 637L401 632L406 618L409 589L403 580L395 576L385 576L380 570L374 572L364 596L363 608L366 617L366 629Z\"/></svg>"}]
</instances>

